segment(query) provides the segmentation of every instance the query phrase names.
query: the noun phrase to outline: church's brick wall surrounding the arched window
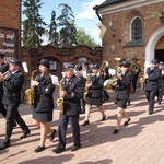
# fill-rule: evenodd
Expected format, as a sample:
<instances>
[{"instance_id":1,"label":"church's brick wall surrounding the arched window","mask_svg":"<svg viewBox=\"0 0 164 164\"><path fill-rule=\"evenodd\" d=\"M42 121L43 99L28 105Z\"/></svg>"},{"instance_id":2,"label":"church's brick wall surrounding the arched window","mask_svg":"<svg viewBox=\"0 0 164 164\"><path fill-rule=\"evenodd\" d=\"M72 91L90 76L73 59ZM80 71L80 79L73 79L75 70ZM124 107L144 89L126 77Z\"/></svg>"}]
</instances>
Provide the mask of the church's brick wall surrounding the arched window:
<instances>
[{"instance_id":1,"label":"church's brick wall surrounding the arched window","mask_svg":"<svg viewBox=\"0 0 164 164\"><path fill-rule=\"evenodd\" d=\"M103 57L112 67L115 66L114 57L139 57L143 68L147 43L154 31L164 25L159 19L162 11L163 2L103 16L103 23L107 26L103 37ZM130 22L134 16L140 16L143 21L143 46L124 48L130 42ZM109 21L113 23L113 31L109 30Z\"/></svg>"}]
</instances>

